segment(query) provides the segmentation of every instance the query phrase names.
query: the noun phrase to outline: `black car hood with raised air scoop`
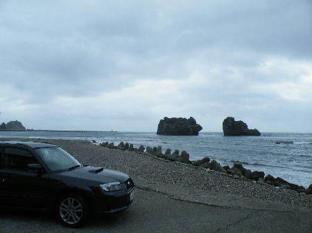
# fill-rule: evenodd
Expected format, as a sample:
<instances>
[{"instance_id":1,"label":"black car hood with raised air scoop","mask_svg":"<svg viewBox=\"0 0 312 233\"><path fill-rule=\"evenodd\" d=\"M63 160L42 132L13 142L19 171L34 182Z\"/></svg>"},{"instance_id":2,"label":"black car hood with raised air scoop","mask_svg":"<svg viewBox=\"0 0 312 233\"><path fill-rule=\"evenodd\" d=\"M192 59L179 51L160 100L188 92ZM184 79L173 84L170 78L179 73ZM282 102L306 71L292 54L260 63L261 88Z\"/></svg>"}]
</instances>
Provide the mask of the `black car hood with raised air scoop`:
<instances>
[{"instance_id":1,"label":"black car hood with raised air scoop","mask_svg":"<svg viewBox=\"0 0 312 233\"><path fill-rule=\"evenodd\" d=\"M65 171L64 176L72 178L81 178L89 180L92 183L110 183L119 181L121 183L128 180L129 176L121 171L114 171L110 169L103 169L103 167L78 167L72 171Z\"/></svg>"}]
</instances>

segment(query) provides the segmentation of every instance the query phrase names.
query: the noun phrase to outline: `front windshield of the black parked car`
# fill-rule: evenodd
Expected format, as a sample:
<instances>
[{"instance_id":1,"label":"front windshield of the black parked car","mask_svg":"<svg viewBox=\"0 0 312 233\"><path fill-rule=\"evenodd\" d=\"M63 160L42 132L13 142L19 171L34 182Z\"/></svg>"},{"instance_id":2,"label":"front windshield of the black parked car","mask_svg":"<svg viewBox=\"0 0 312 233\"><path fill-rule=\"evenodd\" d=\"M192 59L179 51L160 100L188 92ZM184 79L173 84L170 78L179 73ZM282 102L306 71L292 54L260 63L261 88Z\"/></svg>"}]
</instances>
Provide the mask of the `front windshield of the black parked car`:
<instances>
[{"instance_id":1,"label":"front windshield of the black parked car","mask_svg":"<svg viewBox=\"0 0 312 233\"><path fill-rule=\"evenodd\" d=\"M60 147L36 149L38 156L50 171L60 171L80 167L81 164Z\"/></svg>"}]
</instances>

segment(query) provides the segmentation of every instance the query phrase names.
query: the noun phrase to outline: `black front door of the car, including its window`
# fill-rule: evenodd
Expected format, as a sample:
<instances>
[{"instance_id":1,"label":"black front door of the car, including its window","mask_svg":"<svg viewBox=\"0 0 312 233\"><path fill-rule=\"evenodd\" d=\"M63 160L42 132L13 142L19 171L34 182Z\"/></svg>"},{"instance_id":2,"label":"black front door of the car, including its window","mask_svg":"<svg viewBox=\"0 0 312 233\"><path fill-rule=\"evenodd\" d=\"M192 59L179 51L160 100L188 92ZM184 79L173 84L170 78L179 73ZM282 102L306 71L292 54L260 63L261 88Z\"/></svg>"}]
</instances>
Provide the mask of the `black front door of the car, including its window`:
<instances>
[{"instance_id":1,"label":"black front door of the car, including its window","mask_svg":"<svg viewBox=\"0 0 312 233\"><path fill-rule=\"evenodd\" d=\"M51 189L49 177L42 172L28 170L28 164L39 163L31 151L6 147L1 157L4 204L11 207L46 208L49 204L46 199Z\"/></svg>"}]
</instances>

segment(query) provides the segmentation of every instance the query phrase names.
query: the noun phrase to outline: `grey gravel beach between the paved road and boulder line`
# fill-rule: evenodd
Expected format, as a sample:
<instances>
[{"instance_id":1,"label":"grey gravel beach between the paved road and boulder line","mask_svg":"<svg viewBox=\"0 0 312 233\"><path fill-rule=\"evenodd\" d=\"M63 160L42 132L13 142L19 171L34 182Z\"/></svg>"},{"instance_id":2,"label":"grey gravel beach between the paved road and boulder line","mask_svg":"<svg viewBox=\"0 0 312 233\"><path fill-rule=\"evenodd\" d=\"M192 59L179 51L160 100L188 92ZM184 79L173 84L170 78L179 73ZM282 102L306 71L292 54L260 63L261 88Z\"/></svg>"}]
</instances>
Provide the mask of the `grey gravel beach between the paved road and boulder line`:
<instances>
[{"instance_id":1,"label":"grey gravel beach between the paved road and boulder line","mask_svg":"<svg viewBox=\"0 0 312 233\"><path fill-rule=\"evenodd\" d=\"M82 140L25 138L1 138L1 140L49 142L66 149L73 156L76 156L83 165L116 169L130 176L136 176L146 180L155 180L181 187L207 189L209 192L221 194L236 194L278 203L312 207L311 195L298 194L288 189L277 189L269 185L252 183L249 180L235 179L215 171L207 171L207 169L202 169L201 167L161 160L147 153L107 149Z\"/></svg>"}]
</instances>

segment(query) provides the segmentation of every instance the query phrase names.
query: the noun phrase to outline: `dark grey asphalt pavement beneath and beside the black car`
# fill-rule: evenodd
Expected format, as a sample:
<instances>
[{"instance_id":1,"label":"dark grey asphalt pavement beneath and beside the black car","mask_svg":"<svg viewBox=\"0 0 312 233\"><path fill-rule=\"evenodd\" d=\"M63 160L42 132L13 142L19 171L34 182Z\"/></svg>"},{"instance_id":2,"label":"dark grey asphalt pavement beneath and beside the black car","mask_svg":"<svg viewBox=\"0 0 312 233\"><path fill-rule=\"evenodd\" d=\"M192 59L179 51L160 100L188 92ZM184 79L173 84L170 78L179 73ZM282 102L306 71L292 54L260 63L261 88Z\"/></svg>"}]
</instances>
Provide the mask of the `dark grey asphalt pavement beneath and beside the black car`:
<instances>
[{"instance_id":1,"label":"dark grey asphalt pavement beneath and beside the black car","mask_svg":"<svg viewBox=\"0 0 312 233\"><path fill-rule=\"evenodd\" d=\"M97 216L78 229L49 214L0 212L0 232L311 232L311 212L211 206L136 189L135 203L114 216Z\"/></svg>"}]
</instances>

